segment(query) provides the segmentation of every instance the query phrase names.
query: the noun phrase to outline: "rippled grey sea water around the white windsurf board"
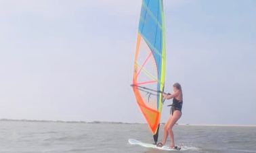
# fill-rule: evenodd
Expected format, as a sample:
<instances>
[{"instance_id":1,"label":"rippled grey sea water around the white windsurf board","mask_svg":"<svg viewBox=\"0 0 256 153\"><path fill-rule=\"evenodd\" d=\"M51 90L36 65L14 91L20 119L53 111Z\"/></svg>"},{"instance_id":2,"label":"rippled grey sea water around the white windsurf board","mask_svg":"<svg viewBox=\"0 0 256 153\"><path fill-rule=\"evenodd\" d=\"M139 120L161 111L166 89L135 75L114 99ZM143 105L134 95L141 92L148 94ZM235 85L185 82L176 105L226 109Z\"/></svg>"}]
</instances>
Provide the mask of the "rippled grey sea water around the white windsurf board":
<instances>
[{"instance_id":1,"label":"rippled grey sea water around the white windsurf board","mask_svg":"<svg viewBox=\"0 0 256 153\"><path fill-rule=\"evenodd\" d=\"M176 145L191 148L174 152L256 152L256 127L175 125L173 131ZM167 152L131 145L129 138L153 142L146 124L0 121L0 152Z\"/></svg>"}]
</instances>

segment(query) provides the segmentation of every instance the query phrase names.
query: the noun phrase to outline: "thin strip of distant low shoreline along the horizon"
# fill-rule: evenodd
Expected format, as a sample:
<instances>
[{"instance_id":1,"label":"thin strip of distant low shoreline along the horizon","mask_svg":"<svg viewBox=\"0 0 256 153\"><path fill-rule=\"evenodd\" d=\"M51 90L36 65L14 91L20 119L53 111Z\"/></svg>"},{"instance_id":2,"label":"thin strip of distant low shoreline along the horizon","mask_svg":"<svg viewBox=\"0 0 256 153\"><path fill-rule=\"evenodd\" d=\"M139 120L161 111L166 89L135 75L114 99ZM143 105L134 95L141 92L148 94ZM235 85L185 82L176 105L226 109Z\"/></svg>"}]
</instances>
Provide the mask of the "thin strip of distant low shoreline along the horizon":
<instances>
[{"instance_id":1,"label":"thin strip of distant low shoreline along the horizon","mask_svg":"<svg viewBox=\"0 0 256 153\"><path fill-rule=\"evenodd\" d=\"M61 120L33 120L33 119L0 119L0 121L23 121L23 122L41 122L41 123L108 123L108 124L146 124L146 123L124 123L114 121L61 121ZM161 123L163 125L165 123ZM176 124L178 126L206 126L206 127L256 127L256 125L217 125L217 124Z\"/></svg>"}]
</instances>

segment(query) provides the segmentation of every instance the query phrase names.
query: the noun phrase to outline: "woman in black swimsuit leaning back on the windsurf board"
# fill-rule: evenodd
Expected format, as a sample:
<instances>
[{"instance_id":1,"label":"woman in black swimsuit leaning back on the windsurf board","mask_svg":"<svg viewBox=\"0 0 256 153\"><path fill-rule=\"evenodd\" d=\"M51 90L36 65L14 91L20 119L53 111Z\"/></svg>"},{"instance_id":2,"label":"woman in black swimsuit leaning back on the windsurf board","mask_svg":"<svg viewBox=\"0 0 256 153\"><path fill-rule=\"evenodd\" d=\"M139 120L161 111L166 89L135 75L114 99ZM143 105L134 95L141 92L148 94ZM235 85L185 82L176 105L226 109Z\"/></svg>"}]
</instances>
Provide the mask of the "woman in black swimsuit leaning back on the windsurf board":
<instances>
[{"instance_id":1,"label":"woman in black swimsuit leaning back on the windsurf board","mask_svg":"<svg viewBox=\"0 0 256 153\"><path fill-rule=\"evenodd\" d=\"M182 86L180 86L179 83L173 84L173 92L174 92L173 94L163 94L163 98L166 98L166 99L173 98L173 104L171 105L171 115L167 120L167 123L165 123L163 142L158 143L157 146L158 147L164 146L167 140L167 136L169 134L171 139L170 147L172 149L179 150L180 148L175 146L172 129L175 123L178 121L178 119L182 116L182 103L183 103Z\"/></svg>"}]
</instances>

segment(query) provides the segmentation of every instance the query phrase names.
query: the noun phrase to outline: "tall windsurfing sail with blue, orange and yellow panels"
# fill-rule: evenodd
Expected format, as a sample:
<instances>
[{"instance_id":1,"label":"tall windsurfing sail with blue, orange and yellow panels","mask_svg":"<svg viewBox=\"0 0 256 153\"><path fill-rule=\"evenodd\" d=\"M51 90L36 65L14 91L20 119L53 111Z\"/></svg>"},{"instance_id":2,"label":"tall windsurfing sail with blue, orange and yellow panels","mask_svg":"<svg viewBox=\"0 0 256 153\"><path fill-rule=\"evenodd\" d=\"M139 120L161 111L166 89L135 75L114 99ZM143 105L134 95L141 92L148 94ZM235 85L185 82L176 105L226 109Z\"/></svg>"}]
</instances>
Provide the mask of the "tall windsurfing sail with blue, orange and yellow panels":
<instances>
[{"instance_id":1,"label":"tall windsurfing sail with blue, orange and yellow panels","mask_svg":"<svg viewBox=\"0 0 256 153\"><path fill-rule=\"evenodd\" d=\"M152 134L158 133L165 86L163 0L142 0L131 86Z\"/></svg>"}]
</instances>

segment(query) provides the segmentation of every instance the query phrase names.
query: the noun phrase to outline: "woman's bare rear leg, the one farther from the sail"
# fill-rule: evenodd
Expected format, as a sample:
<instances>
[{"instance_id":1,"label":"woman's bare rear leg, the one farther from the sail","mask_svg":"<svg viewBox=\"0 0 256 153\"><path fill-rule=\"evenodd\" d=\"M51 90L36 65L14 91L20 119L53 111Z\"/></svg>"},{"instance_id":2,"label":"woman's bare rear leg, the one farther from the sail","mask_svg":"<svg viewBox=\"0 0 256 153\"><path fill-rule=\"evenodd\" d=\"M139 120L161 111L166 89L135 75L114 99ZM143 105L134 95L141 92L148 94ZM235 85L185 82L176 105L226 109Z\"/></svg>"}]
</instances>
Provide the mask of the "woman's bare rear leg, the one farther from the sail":
<instances>
[{"instance_id":1,"label":"woman's bare rear leg, the one farther from the sail","mask_svg":"<svg viewBox=\"0 0 256 153\"><path fill-rule=\"evenodd\" d=\"M170 135L170 139L171 139L171 148L173 148L175 146L174 143L174 137L173 137L173 126L175 125L175 123L179 120L179 118L182 116L182 113L180 111L174 111L173 112L173 117L171 117L171 121L169 122L169 128L168 133Z\"/></svg>"}]
</instances>

